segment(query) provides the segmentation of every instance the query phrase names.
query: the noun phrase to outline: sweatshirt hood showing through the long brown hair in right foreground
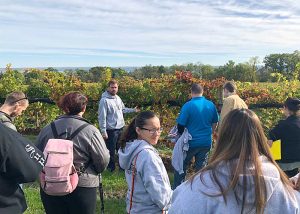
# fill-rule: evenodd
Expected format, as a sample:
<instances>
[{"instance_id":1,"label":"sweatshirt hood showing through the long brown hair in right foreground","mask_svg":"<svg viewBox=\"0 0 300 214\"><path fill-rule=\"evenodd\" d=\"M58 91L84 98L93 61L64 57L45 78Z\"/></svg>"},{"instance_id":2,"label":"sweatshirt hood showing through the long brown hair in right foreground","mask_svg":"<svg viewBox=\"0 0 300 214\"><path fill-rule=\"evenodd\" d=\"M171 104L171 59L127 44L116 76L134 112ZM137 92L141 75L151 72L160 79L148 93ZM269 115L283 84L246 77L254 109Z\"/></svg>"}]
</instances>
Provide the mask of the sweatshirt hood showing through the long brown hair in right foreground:
<instances>
[{"instance_id":1,"label":"sweatshirt hood showing through the long brown hair in right foreground","mask_svg":"<svg viewBox=\"0 0 300 214\"><path fill-rule=\"evenodd\" d=\"M261 159L261 167L262 167L262 174L263 174L263 178L265 180L265 184L266 184L266 189L267 189L267 201L271 198L271 196L273 195L276 186L278 185L278 183L281 181L280 180L280 174L277 170L277 168L267 160L266 157L259 157ZM223 187L227 187L230 179L229 179L229 174L231 174L230 172L230 165L235 164L234 162L237 162L237 160L234 160L233 162L222 162L217 166L217 170L216 170L216 176L219 179L219 181L221 182L221 185ZM247 188L246 188L246 203L245 204L251 204L253 205L254 200L255 200L255 188L254 188L254 176L251 174L251 171L254 170L254 166L253 164L249 164L247 167L247 171L245 174L242 174L239 176L239 180L238 180L238 184L236 186L236 199L238 201L242 201L243 199L243 180L246 179L247 180ZM216 185L214 184L215 182L211 181L209 182L208 180L212 179L211 173L210 171L207 171L207 175L204 176L204 185L207 185L212 187L212 188L207 188L205 191L208 194L218 194L219 193L219 187L216 187ZM211 186L212 185L212 186Z\"/></svg>"}]
</instances>

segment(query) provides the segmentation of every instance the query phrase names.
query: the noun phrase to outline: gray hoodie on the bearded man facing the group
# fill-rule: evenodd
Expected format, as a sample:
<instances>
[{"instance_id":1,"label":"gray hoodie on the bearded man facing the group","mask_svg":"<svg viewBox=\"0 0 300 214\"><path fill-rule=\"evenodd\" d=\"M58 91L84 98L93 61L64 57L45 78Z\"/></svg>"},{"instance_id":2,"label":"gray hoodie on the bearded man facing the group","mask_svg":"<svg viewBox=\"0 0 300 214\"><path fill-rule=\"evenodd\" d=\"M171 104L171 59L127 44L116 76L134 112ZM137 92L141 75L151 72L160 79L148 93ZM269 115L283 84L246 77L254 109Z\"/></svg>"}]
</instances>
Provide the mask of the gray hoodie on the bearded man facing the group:
<instances>
[{"instance_id":1,"label":"gray hoodie on the bearded man facing the group","mask_svg":"<svg viewBox=\"0 0 300 214\"><path fill-rule=\"evenodd\" d=\"M101 133L106 130L121 129L125 126L123 113L135 112L134 108L126 108L118 95L112 96L105 91L99 101L98 121Z\"/></svg>"}]
</instances>

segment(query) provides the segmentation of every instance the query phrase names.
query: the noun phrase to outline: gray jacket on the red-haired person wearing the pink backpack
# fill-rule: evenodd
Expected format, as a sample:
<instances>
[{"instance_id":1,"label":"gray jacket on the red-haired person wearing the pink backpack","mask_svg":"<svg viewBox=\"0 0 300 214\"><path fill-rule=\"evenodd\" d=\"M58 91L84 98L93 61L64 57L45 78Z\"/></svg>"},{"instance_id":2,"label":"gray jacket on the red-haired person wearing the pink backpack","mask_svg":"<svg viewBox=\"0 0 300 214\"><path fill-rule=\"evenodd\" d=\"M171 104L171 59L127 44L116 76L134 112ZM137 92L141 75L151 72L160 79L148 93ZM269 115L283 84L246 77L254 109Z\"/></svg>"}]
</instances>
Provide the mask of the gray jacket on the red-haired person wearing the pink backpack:
<instances>
[{"instance_id":1,"label":"gray jacket on the red-haired person wearing the pink backpack","mask_svg":"<svg viewBox=\"0 0 300 214\"><path fill-rule=\"evenodd\" d=\"M67 132L71 135L84 123L85 119L79 116L60 116L55 120L55 126L58 135ZM53 138L50 124L42 129L37 138L37 147L44 151L49 139ZM99 185L98 174L103 172L109 162L109 152L99 130L89 125L81 130L78 135L72 139L74 143L74 165L78 169L86 167L86 170L79 176L78 186L97 187Z\"/></svg>"}]
</instances>

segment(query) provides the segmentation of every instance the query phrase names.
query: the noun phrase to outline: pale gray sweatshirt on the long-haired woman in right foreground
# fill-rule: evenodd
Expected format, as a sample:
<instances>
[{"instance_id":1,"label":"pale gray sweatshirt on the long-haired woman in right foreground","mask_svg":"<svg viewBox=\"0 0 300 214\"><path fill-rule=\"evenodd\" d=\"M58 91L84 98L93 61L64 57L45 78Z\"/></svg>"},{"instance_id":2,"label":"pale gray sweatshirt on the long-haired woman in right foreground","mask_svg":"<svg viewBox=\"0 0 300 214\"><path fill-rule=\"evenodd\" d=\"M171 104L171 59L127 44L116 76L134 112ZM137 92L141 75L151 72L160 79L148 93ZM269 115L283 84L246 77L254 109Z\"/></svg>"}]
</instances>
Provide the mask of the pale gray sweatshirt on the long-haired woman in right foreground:
<instances>
[{"instance_id":1,"label":"pale gray sweatshirt on the long-haired woman in right foreground","mask_svg":"<svg viewBox=\"0 0 300 214\"><path fill-rule=\"evenodd\" d=\"M262 161L262 174L267 188L267 202L263 213L281 214L300 213L300 193L291 190L292 196L289 195L287 189L281 182L277 168L269 162L265 157L260 157ZM249 166L248 171L253 170L253 166ZM241 202L237 203L237 199L241 200L243 194L237 191L235 195L231 190L227 193L227 203L222 196L210 196L218 194L219 187L212 180L211 172L203 172L203 181L200 176L194 178L193 183L186 181L176 188L172 198L172 204L169 214L198 214L198 213L224 213L224 214L240 214ZM229 179L228 163L220 164L216 176L220 179L221 185L227 186ZM248 187L246 189L246 203L243 213L255 214L253 203L255 200L255 186L253 177L245 174L240 175L239 184L242 185L242 179L247 176Z\"/></svg>"}]
</instances>

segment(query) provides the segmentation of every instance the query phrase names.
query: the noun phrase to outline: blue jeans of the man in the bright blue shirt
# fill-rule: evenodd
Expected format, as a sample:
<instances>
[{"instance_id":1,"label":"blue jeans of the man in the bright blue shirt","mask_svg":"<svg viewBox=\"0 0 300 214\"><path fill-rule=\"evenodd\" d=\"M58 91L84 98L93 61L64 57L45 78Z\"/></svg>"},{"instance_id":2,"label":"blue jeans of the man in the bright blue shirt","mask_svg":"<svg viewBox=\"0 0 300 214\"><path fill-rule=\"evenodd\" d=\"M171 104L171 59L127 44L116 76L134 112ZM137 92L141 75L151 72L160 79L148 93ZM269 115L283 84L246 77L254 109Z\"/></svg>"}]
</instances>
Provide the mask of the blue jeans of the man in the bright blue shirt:
<instances>
[{"instance_id":1,"label":"blue jeans of the man in the bright blue shirt","mask_svg":"<svg viewBox=\"0 0 300 214\"><path fill-rule=\"evenodd\" d=\"M184 182L186 176L186 170L191 164L191 160L195 157L195 170L196 172L202 168L203 162L205 160L205 155L209 152L210 147L195 147L189 148L186 154L186 158L183 162L183 171L184 173L179 174L176 170L174 170L174 184L173 190L176 189L182 182Z\"/></svg>"}]
</instances>

